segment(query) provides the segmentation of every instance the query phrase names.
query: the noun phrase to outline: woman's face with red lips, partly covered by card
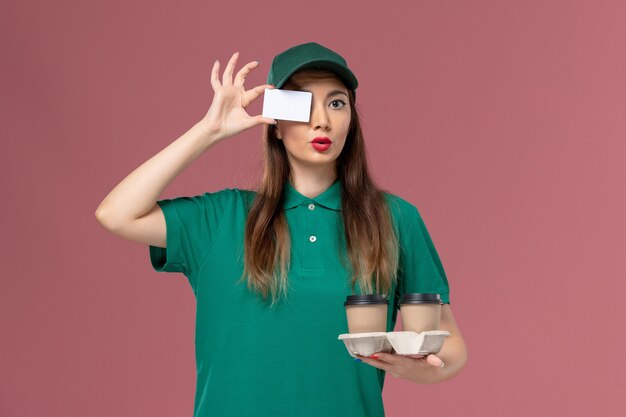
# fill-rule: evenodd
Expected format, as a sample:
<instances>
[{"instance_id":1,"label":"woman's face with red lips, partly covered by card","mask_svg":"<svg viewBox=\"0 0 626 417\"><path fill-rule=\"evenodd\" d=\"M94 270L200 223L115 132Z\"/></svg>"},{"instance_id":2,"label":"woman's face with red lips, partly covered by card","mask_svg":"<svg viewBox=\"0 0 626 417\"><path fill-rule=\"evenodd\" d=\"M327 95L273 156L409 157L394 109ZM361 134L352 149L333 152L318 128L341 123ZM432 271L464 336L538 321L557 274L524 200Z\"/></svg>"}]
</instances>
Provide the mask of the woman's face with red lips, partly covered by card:
<instances>
[{"instance_id":1,"label":"woman's face with red lips, partly covered by card","mask_svg":"<svg viewBox=\"0 0 626 417\"><path fill-rule=\"evenodd\" d=\"M348 89L332 75L301 71L286 90L313 94L308 122L279 120L276 136L283 141L292 169L335 168L350 127ZM317 139L316 139L317 138ZM324 144L324 139L327 144Z\"/></svg>"}]
</instances>

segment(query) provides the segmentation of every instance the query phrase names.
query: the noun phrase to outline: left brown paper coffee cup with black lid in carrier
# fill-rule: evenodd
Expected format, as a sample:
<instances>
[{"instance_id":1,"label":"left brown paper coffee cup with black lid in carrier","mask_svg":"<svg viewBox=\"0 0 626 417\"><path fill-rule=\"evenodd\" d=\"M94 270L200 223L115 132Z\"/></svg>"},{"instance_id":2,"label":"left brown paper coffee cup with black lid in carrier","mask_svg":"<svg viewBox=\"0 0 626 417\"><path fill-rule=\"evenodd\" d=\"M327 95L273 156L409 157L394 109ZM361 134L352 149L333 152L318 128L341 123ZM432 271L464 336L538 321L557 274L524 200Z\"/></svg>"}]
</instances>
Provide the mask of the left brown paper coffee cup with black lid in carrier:
<instances>
[{"instance_id":1,"label":"left brown paper coffee cup with black lid in carrier","mask_svg":"<svg viewBox=\"0 0 626 417\"><path fill-rule=\"evenodd\" d=\"M349 295L343 305L346 307L349 333L387 331L389 301L384 295Z\"/></svg>"}]
</instances>

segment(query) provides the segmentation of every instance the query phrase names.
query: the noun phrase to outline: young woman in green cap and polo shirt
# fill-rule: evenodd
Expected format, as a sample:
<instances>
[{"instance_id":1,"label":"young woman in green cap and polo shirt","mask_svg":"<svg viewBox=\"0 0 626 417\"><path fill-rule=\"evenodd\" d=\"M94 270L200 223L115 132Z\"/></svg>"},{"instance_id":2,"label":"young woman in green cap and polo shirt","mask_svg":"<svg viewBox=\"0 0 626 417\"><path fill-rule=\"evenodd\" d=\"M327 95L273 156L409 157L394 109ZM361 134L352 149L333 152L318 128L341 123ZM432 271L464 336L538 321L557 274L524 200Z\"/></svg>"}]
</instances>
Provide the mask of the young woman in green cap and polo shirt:
<instances>
[{"instance_id":1,"label":"young woman in green cap and polo shirt","mask_svg":"<svg viewBox=\"0 0 626 417\"><path fill-rule=\"evenodd\" d=\"M370 178L355 107L358 81L345 60L314 42L277 55L267 84L244 89L235 53L206 116L118 184L100 223L150 245L157 271L181 272L197 301L195 416L383 416L385 373L421 384L452 378L467 352L448 281L415 206ZM309 122L251 117L266 88L309 91ZM157 200L202 153L264 125L256 191L225 189ZM390 300L393 331L405 292L441 295L448 330L438 355L378 353L354 361L343 301ZM445 365L444 365L445 363Z\"/></svg>"}]
</instances>

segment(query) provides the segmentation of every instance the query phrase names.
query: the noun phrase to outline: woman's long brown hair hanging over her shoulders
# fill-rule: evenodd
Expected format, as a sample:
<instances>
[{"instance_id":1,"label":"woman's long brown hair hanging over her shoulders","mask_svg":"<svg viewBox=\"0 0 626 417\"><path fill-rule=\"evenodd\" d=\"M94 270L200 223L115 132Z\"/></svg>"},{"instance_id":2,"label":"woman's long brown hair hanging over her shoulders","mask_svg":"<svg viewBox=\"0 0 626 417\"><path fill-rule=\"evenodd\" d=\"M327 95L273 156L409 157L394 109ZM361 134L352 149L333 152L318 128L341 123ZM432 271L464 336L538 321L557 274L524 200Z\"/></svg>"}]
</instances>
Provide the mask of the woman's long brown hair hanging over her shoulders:
<instances>
[{"instance_id":1,"label":"woman's long brown hair hanging over her shoulders","mask_svg":"<svg viewBox=\"0 0 626 417\"><path fill-rule=\"evenodd\" d=\"M337 78L328 71L307 72ZM299 89L293 78L285 83L285 87ZM349 88L348 96L350 127L337 158L337 179L342 189L341 214L350 265L346 262L346 254L340 254L340 258L351 272L353 291L358 283L364 294L387 294L398 268L397 234L383 190L376 186L369 174L359 113L354 93ZM282 196L291 169L285 146L276 137L274 126L266 126L263 143L263 175L246 219L242 279L247 276L248 288L264 299L271 296L273 305L288 293L291 241Z\"/></svg>"}]
</instances>

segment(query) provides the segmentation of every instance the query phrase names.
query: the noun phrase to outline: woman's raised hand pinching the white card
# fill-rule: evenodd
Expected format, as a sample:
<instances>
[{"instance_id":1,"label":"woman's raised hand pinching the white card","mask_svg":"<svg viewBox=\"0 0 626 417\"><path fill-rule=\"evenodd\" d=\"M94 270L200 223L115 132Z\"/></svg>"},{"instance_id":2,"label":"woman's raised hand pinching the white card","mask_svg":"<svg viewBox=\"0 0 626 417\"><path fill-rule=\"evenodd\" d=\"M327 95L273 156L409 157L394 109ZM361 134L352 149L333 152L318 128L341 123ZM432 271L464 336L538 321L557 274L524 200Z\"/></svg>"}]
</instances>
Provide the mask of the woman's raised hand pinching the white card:
<instances>
[{"instance_id":1,"label":"woman's raised hand pinching the white card","mask_svg":"<svg viewBox=\"0 0 626 417\"><path fill-rule=\"evenodd\" d=\"M261 115L250 116L246 113L245 108L248 104L263 94L266 88L274 88L274 86L263 84L246 91L243 86L246 76L259 65L259 62L252 61L244 65L233 80L233 70L238 57L239 52L235 52L228 61L222 82L219 80L219 61L215 61L211 71L211 85L215 95L209 111L201 122L211 130L216 141L260 124L274 124L275 122L271 118Z\"/></svg>"}]
</instances>

